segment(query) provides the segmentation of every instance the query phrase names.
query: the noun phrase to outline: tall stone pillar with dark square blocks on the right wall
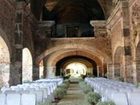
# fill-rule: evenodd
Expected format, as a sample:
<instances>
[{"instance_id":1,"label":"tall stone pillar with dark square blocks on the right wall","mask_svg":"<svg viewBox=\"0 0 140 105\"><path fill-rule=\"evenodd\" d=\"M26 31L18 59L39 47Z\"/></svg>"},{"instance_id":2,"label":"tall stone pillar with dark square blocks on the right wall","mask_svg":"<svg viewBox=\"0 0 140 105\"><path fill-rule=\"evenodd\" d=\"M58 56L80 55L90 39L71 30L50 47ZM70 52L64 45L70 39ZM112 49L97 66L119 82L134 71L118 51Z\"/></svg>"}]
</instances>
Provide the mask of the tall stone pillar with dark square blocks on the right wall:
<instances>
[{"instance_id":1,"label":"tall stone pillar with dark square blocks on the right wall","mask_svg":"<svg viewBox=\"0 0 140 105\"><path fill-rule=\"evenodd\" d=\"M133 82L132 68L132 52L131 52L131 37L129 24L129 3L128 0L122 1L122 16L123 16L123 37L124 37L124 56L125 56L125 79L127 82Z\"/></svg>"}]
</instances>

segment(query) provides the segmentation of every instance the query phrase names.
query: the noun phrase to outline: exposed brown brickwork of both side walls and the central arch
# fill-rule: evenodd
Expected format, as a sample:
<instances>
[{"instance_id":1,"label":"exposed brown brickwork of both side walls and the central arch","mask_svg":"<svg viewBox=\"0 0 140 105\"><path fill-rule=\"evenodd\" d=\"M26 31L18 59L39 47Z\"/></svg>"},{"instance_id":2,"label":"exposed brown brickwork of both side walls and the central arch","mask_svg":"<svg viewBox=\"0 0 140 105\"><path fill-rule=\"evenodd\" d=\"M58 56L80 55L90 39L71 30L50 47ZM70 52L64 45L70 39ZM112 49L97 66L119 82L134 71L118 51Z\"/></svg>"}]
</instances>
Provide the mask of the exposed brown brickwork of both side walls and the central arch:
<instances>
[{"instance_id":1,"label":"exposed brown brickwork of both side walls and the central arch","mask_svg":"<svg viewBox=\"0 0 140 105\"><path fill-rule=\"evenodd\" d=\"M105 12L105 16L109 17L104 21L104 26L102 27L104 28L103 30L105 30L105 34L103 33L103 35L101 35L101 30L98 30L98 28L100 29L101 27L94 27L97 28L95 30L96 33L99 34L99 36L95 35L95 38L61 40L49 39L44 29L42 30L42 28L38 27L39 21L37 21L32 15L30 6L24 3L23 8L21 8L23 13L22 25L18 26L18 31L20 29L20 31L23 33L21 40L19 40L17 37L18 35L16 36L15 34L15 31L17 30L17 5L12 0L0 0L0 29L2 30L0 30L0 35L2 37L4 36L6 39L5 42L10 49L10 77L12 78L10 83L17 84L19 80L21 80L22 47L27 47L32 53L34 61L33 77L36 79L39 73L39 67L35 64L37 58L41 58L39 59L40 61L46 61L46 57L51 58L51 56L53 56L52 58L56 63L60 58L68 55L70 56L71 54L75 53L73 51L76 51L78 48L79 55L87 54L86 56L90 57L93 54L92 59L96 59L94 56L99 58L100 65L103 63L105 64L104 67L106 68L106 64L108 64L110 78L114 78L114 70L119 68L120 72L115 73L117 75L120 74L118 76L124 77L125 81L134 81L135 83L139 82L140 49L138 43L140 42L140 1L113 1L114 7L110 5L110 0L99 0L99 3ZM113 12L111 13L110 11L112 11L112 9ZM39 19L40 16L38 15L37 17ZM17 46L17 44L20 44L21 46ZM17 50L19 47L20 49ZM122 50L118 53L119 47L122 47ZM61 51L64 50L62 51L63 53L59 51L59 48ZM82 52L82 49L86 51ZM91 54L90 56L88 55L88 51L89 55ZM121 57L119 57L120 55ZM119 64L119 66L116 66L115 64ZM52 66L54 70L55 65ZM45 74L47 73L45 72Z\"/></svg>"}]
</instances>

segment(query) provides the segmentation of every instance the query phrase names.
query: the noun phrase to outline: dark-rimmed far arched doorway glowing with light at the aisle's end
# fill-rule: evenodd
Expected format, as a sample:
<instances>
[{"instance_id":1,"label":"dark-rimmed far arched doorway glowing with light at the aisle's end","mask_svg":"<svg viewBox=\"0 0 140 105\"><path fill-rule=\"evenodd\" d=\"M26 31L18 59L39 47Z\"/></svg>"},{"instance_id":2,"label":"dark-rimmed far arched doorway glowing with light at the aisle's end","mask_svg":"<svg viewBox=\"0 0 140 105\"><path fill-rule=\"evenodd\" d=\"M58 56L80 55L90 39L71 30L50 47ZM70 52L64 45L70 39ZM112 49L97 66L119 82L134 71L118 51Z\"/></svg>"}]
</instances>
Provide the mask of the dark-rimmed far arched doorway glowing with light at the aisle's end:
<instances>
[{"instance_id":1,"label":"dark-rimmed far arched doorway glowing with light at the aisle's end","mask_svg":"<svg viewBox=\"0 0 140 105\"><path fill-rule=\"evenodd\" d=\"M97 64L95 61L83 56L68 56L56 63L56 76L60 75L97 76Z\"/></svg>"}]
</instances>

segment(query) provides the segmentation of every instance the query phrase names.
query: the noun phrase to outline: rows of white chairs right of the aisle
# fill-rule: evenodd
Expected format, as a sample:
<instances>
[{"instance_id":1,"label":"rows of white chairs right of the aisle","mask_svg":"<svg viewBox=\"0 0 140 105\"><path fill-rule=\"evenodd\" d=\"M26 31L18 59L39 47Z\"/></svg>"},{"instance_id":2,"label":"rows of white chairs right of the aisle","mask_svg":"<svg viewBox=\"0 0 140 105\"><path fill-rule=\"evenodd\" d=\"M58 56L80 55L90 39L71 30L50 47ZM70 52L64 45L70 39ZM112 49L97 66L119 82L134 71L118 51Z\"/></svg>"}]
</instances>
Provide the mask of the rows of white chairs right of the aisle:
<instances>
[{"instance_id":1,"label":"rows of white chairs right of the aisle","mask_svg":"<svg viewBox=\"0 0 140 105\"><path fill-rule=\"evenodd\" d=\"M140 89L135 85L106 78L86 78L102 101L113 100L116 105L140 105Z\"/></svg>"}]
</instances>

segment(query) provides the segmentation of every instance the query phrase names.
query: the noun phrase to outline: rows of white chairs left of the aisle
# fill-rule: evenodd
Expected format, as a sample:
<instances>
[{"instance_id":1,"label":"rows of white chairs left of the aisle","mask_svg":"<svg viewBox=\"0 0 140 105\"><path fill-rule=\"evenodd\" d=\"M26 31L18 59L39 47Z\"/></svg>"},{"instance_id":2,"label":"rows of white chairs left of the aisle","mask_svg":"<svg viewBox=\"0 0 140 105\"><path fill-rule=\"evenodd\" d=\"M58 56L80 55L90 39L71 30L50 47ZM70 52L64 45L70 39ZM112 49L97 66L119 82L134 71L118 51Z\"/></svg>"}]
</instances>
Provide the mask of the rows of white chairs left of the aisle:
<instances>
[{"instance_id":1,"label":"rows of white chairs left of the aisle","mask_svg":"<svg viewBox=\"0 0 140 105\"><path fill-rule=\"evenodd\" d=\"M48 98L63 79L41 79L1 88L0 105L39 105Z\"/></svg>"}]
</instances>

